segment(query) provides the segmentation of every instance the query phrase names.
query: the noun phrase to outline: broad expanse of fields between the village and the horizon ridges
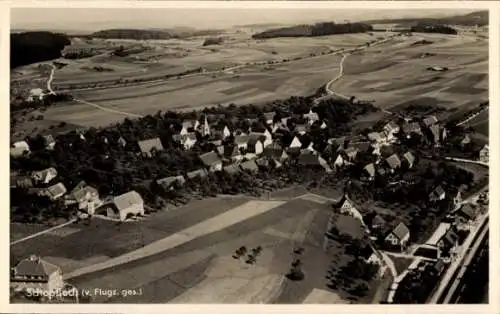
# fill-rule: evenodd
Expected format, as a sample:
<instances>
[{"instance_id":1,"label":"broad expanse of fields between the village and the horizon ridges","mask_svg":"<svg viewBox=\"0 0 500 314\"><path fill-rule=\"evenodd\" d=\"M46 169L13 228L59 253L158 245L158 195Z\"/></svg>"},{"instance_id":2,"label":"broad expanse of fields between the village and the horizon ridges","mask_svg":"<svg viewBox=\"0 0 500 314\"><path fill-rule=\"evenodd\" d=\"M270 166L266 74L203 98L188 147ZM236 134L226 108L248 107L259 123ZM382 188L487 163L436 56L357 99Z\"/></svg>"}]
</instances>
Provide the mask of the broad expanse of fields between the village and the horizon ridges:
<instances>
[{"instance_id":1,"label":"broad expanse of fields between the village and the horizon ridges","mask_svg":"<svg viewBox=\"0 0 500 314\"><path fill-rule=\"evenodd\" d=\"M107 47L108 52L76 61L60 60L68 65L55 71L53 87L62 91L70 88L78 99L136 115L219 103L258 104L310 94L339 73L341 56L322 54L362 45L384 35L252 40L249 33L234 32L228 33L222 45L206 47L202 46L203 38L79 42L99 49ZM420 39L433 43L413 45ZM127 57L112 56L109 52L118 45L142 45L147 50ZM344 76L332 88L348 96L375 100L376 105L384 108L408 101L433 102L450 108L469 106L487 99L487 49L487 41L471 35L414 34L347 57ZM298 57L301 59L293 60ZM274 61L281 62L266 65ZM106 71L96 71L96 66ZM429 66L446 66L449 71L432 72L426 70ZM200 67L206 72L163 78ZM229 69L212 72L222 67ZM32 65L16 69L12 81L19 85L26 80L24 77L37 73L39 77L48 76L46 69ZM119 83L123 79L129 83ZM134 82L138 79L148 81ZM111 85L99 87L103 82ZM78 89L75 84L86 87ZM85 127L107 125L124 117L82 103L60 104L45 112L45 119L50 121Z\"/></svg>"}]
</instances>

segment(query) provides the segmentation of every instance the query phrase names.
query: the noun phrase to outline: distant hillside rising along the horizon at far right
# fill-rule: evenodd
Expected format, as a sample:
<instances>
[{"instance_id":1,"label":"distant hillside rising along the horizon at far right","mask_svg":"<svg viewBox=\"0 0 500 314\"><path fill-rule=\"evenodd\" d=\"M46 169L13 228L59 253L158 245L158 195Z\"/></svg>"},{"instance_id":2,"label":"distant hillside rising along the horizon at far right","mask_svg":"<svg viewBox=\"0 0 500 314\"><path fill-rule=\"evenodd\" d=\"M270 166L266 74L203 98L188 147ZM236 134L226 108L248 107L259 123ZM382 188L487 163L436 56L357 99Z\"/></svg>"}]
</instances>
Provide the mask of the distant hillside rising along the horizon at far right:
<instances>
[{"instance_id":1,"label":"distant hillside rising along the horizon at far right","mask_svg":"<svg viewBox=\"0 0 500 314\"><path fill-rule=\"evenodd\" d=\"M484 26L489 24L488 11L477 11L465 15L455 15L443 18L402 18L402 19L380 19L365 21L367 24L451 24L463 26Z\"/></svg>"}]
</instances>

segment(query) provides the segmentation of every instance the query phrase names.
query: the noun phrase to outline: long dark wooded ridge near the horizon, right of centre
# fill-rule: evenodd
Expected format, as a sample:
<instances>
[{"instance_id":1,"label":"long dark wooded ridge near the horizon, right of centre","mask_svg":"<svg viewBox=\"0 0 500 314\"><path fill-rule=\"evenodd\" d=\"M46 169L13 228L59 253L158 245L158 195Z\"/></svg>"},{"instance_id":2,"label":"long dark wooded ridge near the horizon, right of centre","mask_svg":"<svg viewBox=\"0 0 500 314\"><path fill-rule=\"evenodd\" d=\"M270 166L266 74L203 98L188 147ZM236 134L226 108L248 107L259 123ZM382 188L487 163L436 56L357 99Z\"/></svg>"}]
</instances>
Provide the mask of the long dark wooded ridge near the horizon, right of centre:
<instances>
[{"instance_id":1,"label":"long dark wooded ridge near the horizon, right of centre","mask_svg":"<svg viewBox=\"0 0 500 314\"><path fill-rule=\"evenodd\" d=\"M335 24L334 22L303 24L290 27L270 29L252 35L253 39L276 37L315 37L348 33L364 33L373 30L373 27L364 23Z\"/></svg>"}]
</instances>

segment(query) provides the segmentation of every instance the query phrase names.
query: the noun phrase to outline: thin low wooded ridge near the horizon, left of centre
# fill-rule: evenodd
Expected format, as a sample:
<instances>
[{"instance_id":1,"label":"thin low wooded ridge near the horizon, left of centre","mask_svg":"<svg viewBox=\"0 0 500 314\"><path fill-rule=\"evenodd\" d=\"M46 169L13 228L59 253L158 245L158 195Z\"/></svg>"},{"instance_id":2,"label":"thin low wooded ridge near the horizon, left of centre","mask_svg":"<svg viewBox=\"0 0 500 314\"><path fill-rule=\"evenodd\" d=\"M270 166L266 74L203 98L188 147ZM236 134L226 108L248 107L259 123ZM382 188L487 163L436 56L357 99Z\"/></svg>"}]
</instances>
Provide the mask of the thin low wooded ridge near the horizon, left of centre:
<instances>
[{"instance_id":1,"label":"thin low wooded ridge near the horizon, left of centre","mask_svg":"<svg viewBox=\"0 0 500 314\"><path fill-rule=\"evenodd\" d=\"M220 30L195 30L188 28L179 28L171 30L160 29L106 29L94 32L85 37L106 38L106 39L171 39L171 38L186 38L193 36L208 36L218 35Z\"/></svg>"}]
</instances>

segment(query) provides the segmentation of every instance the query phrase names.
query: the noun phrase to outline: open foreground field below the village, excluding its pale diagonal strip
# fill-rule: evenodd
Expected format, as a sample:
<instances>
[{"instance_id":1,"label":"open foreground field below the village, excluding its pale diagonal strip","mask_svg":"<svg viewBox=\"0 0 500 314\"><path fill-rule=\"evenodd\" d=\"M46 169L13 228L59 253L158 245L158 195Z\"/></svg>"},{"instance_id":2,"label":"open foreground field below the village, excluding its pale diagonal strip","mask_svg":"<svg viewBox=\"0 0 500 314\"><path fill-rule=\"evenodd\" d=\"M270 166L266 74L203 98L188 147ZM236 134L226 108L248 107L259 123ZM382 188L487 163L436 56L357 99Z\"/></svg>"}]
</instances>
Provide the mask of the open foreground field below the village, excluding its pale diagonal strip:
<instances>
[{"instance_id":1,"label":"open foreground field below the village, excluding its pale diagonal strip","mask_svg":"<svg viewBox=\"0 0 500 314\"><path fill-rule=\"evenodd\" d=\"M187 231L191 226L203 229L203 221L241 205L248 211L266 201L254 203L241 198L211 199L121 225L94 219L89 226L67 226L14 245L11 259L40 254L67 274L186 230L182 231L185 236L194 238L184 244L69 281L89 289L94 302L104 303L302 303L318 298L320 290L321 295L335 296L327 303L348 302L342 293L326 287L325 275L332 259L340 266L350 258L342 254L340 243L332 244L326 252L322 248L331 210L326 204L305 199L271 202L270 210L221 230ZM22 231L15 225L11 228ZM232 257L240 246L249 251L262 247L254 264L246 263L245 256ZM290 282L284 275L297 246L305 249L301 260L306 277ZM107 297L95 294L95 288L136 289L141 293Z\"/></svg>"}]
</instances>

